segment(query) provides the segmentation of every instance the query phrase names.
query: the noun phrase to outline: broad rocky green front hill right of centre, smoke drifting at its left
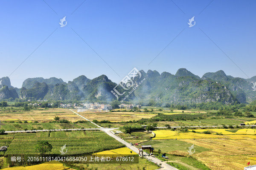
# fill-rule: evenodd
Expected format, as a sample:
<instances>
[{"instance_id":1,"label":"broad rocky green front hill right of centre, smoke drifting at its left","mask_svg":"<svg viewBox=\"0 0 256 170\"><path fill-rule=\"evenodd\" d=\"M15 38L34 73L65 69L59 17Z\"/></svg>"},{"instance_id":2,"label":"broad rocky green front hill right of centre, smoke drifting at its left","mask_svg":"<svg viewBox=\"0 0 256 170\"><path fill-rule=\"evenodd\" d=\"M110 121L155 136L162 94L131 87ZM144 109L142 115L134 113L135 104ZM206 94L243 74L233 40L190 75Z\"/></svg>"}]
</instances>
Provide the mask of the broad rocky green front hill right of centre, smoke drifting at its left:
<instances>
[{"instance_id":1,"label":"broad rocky green front hill right of centre, smoke drifting at its left","mask_svg":"<svg viewBox=\"0 0 256 170\"><path fill-rule=\"evenodd\" d=\"M151 71L140 72L145 81L136 90L131 100L144 104L151 102L163 104L221 102L229 104L237 101L224 85L210 79L202 80L184 69L175 75L167 72L157 74L156 71L154 74Z\"/></svg>"}]
</instances>

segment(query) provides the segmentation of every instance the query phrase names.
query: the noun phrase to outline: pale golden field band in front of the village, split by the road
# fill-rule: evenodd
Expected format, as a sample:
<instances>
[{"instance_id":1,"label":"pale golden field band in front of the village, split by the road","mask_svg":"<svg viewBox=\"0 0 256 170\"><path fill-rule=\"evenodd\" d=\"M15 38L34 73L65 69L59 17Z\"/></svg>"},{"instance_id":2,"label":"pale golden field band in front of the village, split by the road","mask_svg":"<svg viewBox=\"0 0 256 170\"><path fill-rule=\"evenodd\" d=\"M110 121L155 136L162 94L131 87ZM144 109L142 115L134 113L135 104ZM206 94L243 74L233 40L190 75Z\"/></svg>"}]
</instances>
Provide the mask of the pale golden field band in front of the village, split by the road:
<instances>
[{"instance_id":1,"label":"pale golden field band in front of the village, split by the road","mask_svg":"<svg viewBox=\"0 0 256 170\"><path fill-rule=\"evenodd\" d=\"M139 112L96 112L96 111L85 111L76 113L86 117L89 120L108 120L111 122L121 122L129 120L139 120L142 118L151 118L156 114L139 113ZM77 116L69 109L65 108L49 108L41 110L30 110L30 111L5 111L0 113L1 121L38 121L38 122L49 122L53 121L54 117L58 116L60 119L67 119L71 122L78 120L84 120L80 116Z\"/></svg>"}]
</instances>

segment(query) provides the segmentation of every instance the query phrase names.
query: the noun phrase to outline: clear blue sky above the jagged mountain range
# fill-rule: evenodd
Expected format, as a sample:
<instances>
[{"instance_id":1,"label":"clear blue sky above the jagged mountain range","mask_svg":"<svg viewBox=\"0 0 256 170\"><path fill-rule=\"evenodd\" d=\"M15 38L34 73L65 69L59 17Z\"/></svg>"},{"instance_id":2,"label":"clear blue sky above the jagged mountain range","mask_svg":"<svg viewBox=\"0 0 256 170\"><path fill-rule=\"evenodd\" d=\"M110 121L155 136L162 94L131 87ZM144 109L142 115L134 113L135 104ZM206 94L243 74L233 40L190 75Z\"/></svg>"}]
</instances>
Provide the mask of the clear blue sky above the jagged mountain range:
<instances>
[{"instance_id":1,"label":"clear blue sky above the jagged mountain range","mask_svg":"<svg viewBox=\"0 0 256 170\"><path fill-rule=\"evenodd\" d=\"M1 0L0 77L11 74L18 88L32 77L119 82L134 67L253 77L255 8L253 0Z\"/></svg>"}]
</instances>

